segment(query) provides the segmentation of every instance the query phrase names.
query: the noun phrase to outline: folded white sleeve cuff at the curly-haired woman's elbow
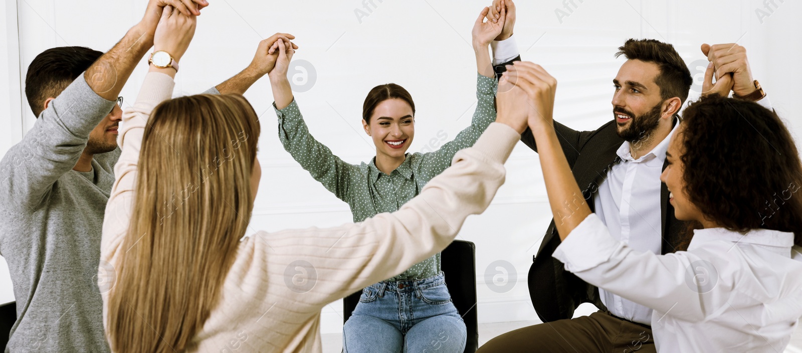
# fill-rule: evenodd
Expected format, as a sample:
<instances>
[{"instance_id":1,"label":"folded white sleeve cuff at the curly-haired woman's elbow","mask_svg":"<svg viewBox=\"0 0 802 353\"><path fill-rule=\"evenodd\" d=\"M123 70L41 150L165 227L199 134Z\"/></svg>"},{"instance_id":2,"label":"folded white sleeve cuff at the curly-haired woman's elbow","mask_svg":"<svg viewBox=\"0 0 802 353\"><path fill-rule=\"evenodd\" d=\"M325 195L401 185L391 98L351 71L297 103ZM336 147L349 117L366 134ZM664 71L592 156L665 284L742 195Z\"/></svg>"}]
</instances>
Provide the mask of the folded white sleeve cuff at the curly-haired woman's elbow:
<instances>
[{"instance_id":1,"label":"folded white sleeve cuff at the curly-haired woman's elbow","mask_svg":"<svg viewBox=\"0 0 802 353\"><path fill-rule=\"evenodd\" d=\"M622 246L621 241L610 236L607 226L596 213L590 213L557 246L552 256L565 264L565 270L576 273L607 262Z\"/></svg>"}]
</instances>

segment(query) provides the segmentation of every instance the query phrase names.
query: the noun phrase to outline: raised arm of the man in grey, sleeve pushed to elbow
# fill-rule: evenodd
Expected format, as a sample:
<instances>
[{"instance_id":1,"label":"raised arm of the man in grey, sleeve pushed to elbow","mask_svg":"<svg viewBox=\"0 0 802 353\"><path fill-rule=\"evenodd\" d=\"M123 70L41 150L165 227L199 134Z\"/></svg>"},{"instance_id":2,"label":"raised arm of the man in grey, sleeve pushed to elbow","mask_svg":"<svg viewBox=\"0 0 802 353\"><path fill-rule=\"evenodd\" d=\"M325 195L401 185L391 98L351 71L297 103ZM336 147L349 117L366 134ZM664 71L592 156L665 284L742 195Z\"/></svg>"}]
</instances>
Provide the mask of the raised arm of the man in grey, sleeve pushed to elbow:
<instances>
[{"instance_id":1,"label":"raised arm of the man in grey, sleeve pushed to elbow","mask_svg":"<svg viewBox=\"0 0 802 353\"><path fill-rule=\"evenodd\" d=\"M156 23L167 4L200 14L205 0L152 0L144 18L75 79L40 114L34 127L0 161L2 205L32 212L52 185L75 167L89 134L111 112L119 91L153 45Z\"/></svg>"}]
</instances>

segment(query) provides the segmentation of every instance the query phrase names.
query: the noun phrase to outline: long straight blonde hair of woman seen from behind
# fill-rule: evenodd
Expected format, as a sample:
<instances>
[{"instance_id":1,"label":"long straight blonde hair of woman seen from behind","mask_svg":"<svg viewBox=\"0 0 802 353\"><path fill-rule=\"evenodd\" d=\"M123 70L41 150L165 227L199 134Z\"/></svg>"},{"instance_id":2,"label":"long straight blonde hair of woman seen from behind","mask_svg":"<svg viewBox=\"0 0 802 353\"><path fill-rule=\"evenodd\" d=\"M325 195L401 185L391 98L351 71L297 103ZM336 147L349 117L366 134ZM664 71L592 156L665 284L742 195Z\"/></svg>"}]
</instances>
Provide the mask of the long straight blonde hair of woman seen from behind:
<instances>
[{"instance_id":1,"label":"long straight blonde hair of woman seen from behind","mask_svg":"<svg viewBox=\"0 0 802 353\"><path fill-rule=\"evenodd\" d=\"M253 210L259 138L241 95L159 104L142 138L131 224L107 335L115 352L192 348L217 305Z\"/></svg>"}]
</instances>

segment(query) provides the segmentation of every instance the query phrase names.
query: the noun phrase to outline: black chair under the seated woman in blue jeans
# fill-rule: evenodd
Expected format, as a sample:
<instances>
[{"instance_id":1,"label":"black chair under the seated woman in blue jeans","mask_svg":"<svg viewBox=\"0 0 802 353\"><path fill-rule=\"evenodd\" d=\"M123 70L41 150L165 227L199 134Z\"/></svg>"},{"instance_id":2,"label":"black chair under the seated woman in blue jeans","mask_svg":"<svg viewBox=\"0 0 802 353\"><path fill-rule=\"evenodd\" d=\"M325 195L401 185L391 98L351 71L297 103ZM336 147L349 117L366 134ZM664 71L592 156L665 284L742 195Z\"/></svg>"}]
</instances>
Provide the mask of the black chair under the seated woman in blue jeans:
<instances>
[{"instance_id":1,"label":"black chair under the seated woman in blue jeans","mask_svg":"<svg viewBox=\"0 0 802 353\"><path fill-rule=\"evenodd\" d=\"M465 353L479 349L479 323L476 316L476 245L471 241L455 240L443 250L441 269L446 277L448 292L456 310L468 329ZM342 299L343 323L348 321L359 302L362 291Z\"/></svg>"}]
</instances>

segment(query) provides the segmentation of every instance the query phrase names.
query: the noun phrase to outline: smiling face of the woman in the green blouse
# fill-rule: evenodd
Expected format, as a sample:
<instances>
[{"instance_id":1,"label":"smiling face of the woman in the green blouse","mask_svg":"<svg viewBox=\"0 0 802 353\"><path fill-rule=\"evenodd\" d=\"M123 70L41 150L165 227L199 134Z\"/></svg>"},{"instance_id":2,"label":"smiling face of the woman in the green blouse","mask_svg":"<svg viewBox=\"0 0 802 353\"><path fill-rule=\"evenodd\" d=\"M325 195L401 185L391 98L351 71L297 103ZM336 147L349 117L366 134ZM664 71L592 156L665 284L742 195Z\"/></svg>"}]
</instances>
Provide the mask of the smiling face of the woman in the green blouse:
<instances>
[{"instance_id":1,"label":"smiling face of the woman in the green blouse","mask_svg":"<svg viewBox=\"0 0 802 353\"><path fill-rule=\"evenodd\" d=\"M376 106L370 124L363 128L376 145L376 155L404 158L415 137L415 113L403 99L387 99Z\"/></svg>"}]
</instances>

